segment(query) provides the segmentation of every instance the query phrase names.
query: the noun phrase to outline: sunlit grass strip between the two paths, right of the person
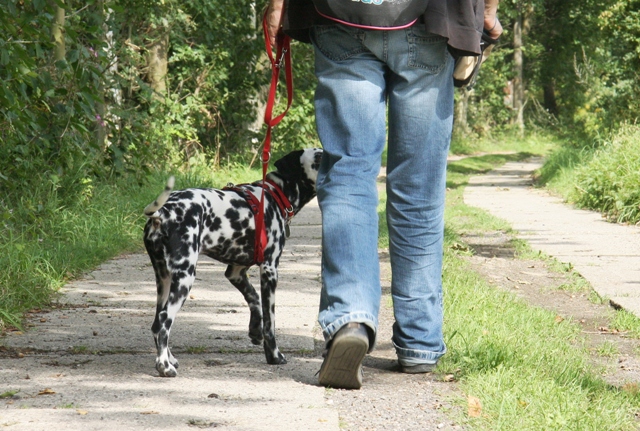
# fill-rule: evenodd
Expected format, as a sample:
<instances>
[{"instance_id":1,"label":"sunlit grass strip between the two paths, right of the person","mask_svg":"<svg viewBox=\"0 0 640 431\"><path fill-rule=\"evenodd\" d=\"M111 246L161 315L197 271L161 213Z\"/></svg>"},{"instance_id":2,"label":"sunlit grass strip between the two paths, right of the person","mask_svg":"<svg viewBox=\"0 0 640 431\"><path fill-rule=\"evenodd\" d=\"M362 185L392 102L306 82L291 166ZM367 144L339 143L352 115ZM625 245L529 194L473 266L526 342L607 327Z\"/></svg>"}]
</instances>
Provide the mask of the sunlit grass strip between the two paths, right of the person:
<instances>
[{"instance_id":1,"label":"sunlit grass strip between the two paths, right of the person","mask_svg":"<svg viewBox=\"0 0 640 431\"><path fill-rule=\"evenodd\" d=\"M464 204L462 193L469 176L535 152L525 148L449 165L443 274L448 353L439 371L453 375L463 392L454 401L462 412L457 421L467 429L491 431L637 429L638 390L604 381L602 370L590 361L577 324L558 322L555 313L530 307L511 293L491 287L460 257L468 254L460 236L464 233L511 232L503 220ZM388 243L382 223L384 206L379 215L380 245L384 246ZM514 246L526 258L550 260L537 256L522 241ZM572 273L559 263L556 269ZM567 289L587 288L583 279L575 278ZM615 325L627 331L640 329L638 319L624 314ZM615 347L602 345L596 353L613 355ZM466 414L467 396L480 399L479 417Z\"/></svg>"}]
</instances>

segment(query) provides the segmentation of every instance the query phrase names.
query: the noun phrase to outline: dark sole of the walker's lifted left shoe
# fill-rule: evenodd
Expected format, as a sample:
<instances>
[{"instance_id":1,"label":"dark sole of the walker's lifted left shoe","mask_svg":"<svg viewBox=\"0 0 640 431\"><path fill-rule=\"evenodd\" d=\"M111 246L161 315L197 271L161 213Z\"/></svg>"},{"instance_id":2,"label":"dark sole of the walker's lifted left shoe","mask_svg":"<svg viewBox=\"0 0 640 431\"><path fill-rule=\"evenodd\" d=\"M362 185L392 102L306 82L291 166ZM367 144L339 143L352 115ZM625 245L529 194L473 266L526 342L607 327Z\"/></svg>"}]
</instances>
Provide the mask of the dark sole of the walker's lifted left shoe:
<instances>
[{"instance_id":1,"label":"dark sole of the walker's lifted left shoe","mask_svg":"<svg viewBox=\"0 0 640 431\"><path fill-rule=\"evenodd\" d=\"M362 360L369 350L369 340L357 335L336 337L320 369L318 382L337 389L362 387Z\"/></svg>"}]
</instances>

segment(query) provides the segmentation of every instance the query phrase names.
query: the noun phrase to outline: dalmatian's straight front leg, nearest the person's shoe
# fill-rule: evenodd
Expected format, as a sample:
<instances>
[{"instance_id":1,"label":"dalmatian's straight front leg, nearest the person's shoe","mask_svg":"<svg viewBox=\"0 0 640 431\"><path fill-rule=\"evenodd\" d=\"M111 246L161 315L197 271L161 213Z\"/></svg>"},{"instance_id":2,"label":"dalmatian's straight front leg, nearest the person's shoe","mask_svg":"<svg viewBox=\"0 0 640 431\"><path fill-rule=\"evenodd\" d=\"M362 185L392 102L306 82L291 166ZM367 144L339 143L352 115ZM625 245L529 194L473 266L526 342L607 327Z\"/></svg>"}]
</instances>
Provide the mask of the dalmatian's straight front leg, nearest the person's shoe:
<instances>
[{"instance_id":1,"label":"dalmatian's straight front leg, nearest the person's shoe","mask_svg":"<svg viewBox=\"0 0 640 431\"><path fill-rule=\"evenodd\" d=\"M272 365L286 364L287 360L276 345L276 286L278 284L278 269L270 262L260 265L260 287L262 293L262 319L264 336L264 354L267 363Z\"/></svg>"}]
</instances>

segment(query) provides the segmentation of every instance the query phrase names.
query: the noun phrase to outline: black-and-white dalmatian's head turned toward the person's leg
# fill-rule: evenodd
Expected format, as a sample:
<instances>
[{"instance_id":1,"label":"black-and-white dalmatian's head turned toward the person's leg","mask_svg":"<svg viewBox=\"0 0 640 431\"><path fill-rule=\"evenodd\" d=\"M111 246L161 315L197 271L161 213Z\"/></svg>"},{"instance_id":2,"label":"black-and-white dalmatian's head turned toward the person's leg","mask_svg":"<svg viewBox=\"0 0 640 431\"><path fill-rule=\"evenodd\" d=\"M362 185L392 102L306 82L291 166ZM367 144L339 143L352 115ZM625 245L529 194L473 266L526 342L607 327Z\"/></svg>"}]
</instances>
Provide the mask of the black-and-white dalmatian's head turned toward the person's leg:
<instances>
[{"instance_id":1,"label":"black-and-white dalmatian's head turned toward the person's leg","mask_svg":"<svg viewBox=\"0 0 640 431\"><path fill-rule=\"evenodd\" d=\"M292 151L277 160L276 171L269 175L281 183L282 191L297 209L302 208L316 195L316 180L322 160L320 148ZM279 180L279 181L278 181Z\"/></svg>"}]
</instances>

